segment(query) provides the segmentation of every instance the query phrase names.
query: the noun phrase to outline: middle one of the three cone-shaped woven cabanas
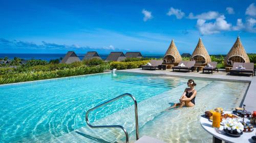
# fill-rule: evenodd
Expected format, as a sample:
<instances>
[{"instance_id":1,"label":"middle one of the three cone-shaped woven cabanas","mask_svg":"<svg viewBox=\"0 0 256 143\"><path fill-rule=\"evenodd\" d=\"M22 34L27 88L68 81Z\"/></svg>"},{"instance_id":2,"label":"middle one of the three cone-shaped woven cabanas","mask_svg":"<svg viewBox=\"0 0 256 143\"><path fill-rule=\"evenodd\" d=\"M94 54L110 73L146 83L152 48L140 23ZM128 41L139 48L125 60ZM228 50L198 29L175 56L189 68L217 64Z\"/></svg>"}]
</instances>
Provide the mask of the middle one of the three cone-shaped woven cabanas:
<instances>
[{"instance_id":1,"label":"middle one of the three cone-shaped woven cabanas","mask_svg":"<svg viewBox=\"0 0 256 143\"><path fill-rule=\"evenodd\" d=\"M207 65L211 62L210 55L208 54L202 39L199 38L198 44L191 56L191 61L196 61L196 64Z\"/></svg>"}]
</instances>

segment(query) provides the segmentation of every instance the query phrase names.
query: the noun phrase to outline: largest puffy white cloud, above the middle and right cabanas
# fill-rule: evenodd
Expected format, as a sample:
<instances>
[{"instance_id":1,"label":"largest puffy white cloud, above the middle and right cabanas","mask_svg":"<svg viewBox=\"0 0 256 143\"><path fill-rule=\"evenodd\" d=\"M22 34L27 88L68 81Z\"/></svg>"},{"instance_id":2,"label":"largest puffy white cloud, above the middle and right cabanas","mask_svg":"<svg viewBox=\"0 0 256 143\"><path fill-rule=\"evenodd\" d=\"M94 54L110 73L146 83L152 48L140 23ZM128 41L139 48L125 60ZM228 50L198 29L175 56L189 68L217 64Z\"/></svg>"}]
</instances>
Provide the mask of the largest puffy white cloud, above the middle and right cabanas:
<instances>
[{"instance_id":1,"label":"largest puffy white cloud, above the middle and right cabanas","mask_svg":"<svg viewBox=\"0 0 256 143\"><path fill-rule=\"evenodd\" d=\"M230 23L227 23L225 16L221 15L214 22L206 22L204 19L197 20L197 28L202 35L210 35L220 33L221 31L229 31Z\"/></svg>"}]
</instances>

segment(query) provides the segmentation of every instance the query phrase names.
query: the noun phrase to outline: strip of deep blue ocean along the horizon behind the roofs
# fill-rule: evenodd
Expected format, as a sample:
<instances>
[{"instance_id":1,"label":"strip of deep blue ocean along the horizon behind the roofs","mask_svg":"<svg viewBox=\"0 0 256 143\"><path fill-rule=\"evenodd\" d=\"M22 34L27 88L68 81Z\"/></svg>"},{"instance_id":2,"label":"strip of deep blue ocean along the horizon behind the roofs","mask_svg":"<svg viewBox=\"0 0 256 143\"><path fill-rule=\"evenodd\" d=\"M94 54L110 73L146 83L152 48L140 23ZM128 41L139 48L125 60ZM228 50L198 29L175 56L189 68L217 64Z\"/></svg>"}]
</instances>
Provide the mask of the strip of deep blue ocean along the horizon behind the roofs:
<instances>
[{"instance_id":1,"label":"strip of deep blue ocean along the horizon behind the roofs","mask_svg":"<svg viewBox=\"0 0 256 143\"><path fill-rule=\"evenodd\" d=\"M31 60L31 59L37 59L37 60L55 60L64 58L66 54L65 53L0 53L0 58L5 58L6 56L9 59L13 59L14 57L24 59L24 60ZM82 60L83 56L85 54L77 54L77 56ZM109 54L99 54L101 59L105 60L106 57L108 57ZM144 58L163 58L164 54L142 54Z\"/></svg>"}]
</instances>

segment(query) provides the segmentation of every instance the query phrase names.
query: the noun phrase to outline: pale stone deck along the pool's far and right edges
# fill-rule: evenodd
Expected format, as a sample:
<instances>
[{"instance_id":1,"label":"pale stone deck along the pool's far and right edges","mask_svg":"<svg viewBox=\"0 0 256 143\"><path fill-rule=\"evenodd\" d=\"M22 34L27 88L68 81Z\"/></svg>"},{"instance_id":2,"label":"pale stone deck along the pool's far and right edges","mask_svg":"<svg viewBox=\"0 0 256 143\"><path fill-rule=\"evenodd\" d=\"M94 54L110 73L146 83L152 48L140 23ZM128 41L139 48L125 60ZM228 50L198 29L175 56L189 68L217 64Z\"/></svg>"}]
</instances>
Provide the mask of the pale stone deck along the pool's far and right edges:
<instances>
[{"instance_id":1,"label":"pale stone deck along the pool's far and right edges","mask_svg":"<svg viewBox=\"0 0 256 143\"><path fill-rule=\"evenodd\" d=\"M234 82L249 82L250 86L247 89L247 93L242 100L243 104L246 105L246 110L253 111L256 110L256 76L247 76L247 75L229 75L229 73L224 70L219 72L214 71L213 74L202 73L200 72L173 72L171 69L166 70L142 70L141 68L137 69L126 69L118 70L117 72L130 72L130 73L141 73L141 74L156 74L161 76L173 76L173 77L186 77L186 78L203 78L203 79L214 79L222 81L234 81ZM242 105L242 104L241 104Z\"/></svg>"}]
</instances>

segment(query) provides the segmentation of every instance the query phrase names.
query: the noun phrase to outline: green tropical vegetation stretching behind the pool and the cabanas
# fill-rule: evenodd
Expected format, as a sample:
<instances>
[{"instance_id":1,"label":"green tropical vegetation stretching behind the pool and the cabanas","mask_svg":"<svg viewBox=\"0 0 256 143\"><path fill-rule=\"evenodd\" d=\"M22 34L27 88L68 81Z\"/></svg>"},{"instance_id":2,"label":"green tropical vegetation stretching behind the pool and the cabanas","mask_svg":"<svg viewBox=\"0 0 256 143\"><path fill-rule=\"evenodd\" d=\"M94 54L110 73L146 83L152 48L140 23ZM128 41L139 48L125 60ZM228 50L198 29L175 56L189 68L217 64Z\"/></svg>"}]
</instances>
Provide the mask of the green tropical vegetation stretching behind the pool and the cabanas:
<instances>
[{"instance_id":1,"label":"green tropical vegetation stretching behind the pool and the cabanas","mask_svg":"<svg viewBox=\"0 0 256 143\"><path fill-rule=\"evenodd\" d=\"M248 54L250 62L256 63L256 54ZM211 61L218 62L218 68L224 68L224 56L211 55ZM92 73L101 73L110 69L133 69L145 65L152 58L126 58L121 62L104 62L101 59L93 58L72 64L60 64L59 59L51 60L28 60L25 64L20 58L9 60L8 57L0 61L8 61L6 64L0 64L0 84L33 81L41 79L59 78L67 76L76 76ZM162 60L156 59L156 60ZM183 57L183 61L189 61L190 58ZM256 64L254 64L256 68Z\"/></svg>"}]
</instances>

